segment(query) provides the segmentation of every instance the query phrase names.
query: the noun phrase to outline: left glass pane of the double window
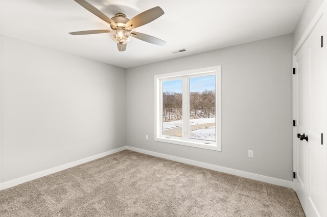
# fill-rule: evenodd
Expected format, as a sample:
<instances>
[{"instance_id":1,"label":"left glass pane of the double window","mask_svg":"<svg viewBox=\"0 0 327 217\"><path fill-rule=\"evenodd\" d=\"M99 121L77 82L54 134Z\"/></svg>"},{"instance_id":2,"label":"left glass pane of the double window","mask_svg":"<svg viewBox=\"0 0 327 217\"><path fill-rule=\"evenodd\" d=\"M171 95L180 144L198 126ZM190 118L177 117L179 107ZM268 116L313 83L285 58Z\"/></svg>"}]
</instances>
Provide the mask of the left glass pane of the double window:
<instances>
[{"instance_id":1,"label":"left glass pane of the double window","mask_svg":"<svg viewBox=\"0 0 327 217\"><path fill-rule=\"evenodd\" d=\"M162 82L162 134L182 137L182 79Z\"/></svg>"}]
</instances>

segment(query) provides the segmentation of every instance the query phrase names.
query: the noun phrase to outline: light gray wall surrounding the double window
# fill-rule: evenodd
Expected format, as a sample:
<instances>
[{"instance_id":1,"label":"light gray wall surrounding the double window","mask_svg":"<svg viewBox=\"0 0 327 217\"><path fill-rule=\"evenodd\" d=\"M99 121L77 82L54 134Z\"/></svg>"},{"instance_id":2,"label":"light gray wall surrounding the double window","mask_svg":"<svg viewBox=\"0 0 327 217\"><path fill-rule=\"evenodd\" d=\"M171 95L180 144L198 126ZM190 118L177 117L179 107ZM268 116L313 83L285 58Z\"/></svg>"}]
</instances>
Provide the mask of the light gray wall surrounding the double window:
<instances>
[{"instance_id":1,"label":"light gray wall surrounding the double window","mask_svg":"<svg viewBox=\"0 0 327 217\"><path fill-rule=\"evenodd\" d=\"M292 38L127 69L126 145L291 181ZM215 65L222 66L222 151L155 142L154 75Z\"/></svg>"}]
</instances>

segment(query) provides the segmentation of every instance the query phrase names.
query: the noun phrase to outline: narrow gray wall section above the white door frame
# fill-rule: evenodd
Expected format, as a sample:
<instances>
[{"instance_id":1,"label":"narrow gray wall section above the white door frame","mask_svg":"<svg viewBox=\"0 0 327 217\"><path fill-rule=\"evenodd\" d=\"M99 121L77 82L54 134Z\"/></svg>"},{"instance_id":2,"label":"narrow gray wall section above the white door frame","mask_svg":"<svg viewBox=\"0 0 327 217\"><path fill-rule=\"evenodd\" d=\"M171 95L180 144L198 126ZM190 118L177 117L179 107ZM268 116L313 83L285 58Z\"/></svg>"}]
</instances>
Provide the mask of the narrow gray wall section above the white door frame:
<instances>
[{"instance_id":1,"label":"narrow gray wall section above the white door frame","mask_svg":"<svg viewBox=\"0 0 327 217\"><path fill-rule=\"evenodd\" d=\"M323 1L324 0L309 0L294 31L293 48L295 48L303 33L306 31L309 23L311 22Z\"/></svg>"}]
</instances>

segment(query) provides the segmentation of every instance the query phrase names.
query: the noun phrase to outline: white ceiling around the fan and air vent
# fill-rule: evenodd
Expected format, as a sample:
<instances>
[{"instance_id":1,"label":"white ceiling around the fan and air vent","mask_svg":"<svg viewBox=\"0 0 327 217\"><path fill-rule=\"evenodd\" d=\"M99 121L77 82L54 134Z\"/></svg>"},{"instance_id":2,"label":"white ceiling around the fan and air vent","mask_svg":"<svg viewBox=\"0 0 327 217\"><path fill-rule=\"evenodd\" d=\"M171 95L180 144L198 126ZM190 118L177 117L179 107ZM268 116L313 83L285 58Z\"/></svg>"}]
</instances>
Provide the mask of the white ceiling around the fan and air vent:
<instances>
[{"instance_id":1,"label":"white ceiling around the fan and air vent","mask_svg":"<svg viewBox=\"0 0 327 217\"><path fill-rule=\"evenodd\" d=\"M108 17L160 6L165 14L134 29L167 41L132 38L119 52L109 34L68 32L110 26L73 0L1 0L1 34L111 65L138 65L293 33L307 0L86 0ZM171 51L185 48L182 53Z\"/></svg>"}]
</instances>

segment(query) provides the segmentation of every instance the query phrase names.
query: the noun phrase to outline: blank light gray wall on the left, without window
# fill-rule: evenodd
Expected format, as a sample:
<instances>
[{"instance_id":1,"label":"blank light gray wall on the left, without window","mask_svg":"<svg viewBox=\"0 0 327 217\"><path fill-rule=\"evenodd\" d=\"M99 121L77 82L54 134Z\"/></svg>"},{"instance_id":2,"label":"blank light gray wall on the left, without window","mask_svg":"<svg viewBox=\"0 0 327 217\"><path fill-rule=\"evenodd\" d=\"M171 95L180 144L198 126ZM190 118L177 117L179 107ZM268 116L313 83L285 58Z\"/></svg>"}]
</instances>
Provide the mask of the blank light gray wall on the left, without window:
<instances>
[{"instance_id":1,"label":"blank light gray wall on the left, without window","mask_svg":"<svg viewBox=\"0 0 327 217\"><path fill-rule=\"evenodd\" d=\"M1 36L1 182L125 146L125 69Z\"/></svg>"}]
</instances>

